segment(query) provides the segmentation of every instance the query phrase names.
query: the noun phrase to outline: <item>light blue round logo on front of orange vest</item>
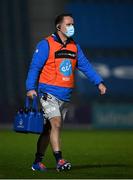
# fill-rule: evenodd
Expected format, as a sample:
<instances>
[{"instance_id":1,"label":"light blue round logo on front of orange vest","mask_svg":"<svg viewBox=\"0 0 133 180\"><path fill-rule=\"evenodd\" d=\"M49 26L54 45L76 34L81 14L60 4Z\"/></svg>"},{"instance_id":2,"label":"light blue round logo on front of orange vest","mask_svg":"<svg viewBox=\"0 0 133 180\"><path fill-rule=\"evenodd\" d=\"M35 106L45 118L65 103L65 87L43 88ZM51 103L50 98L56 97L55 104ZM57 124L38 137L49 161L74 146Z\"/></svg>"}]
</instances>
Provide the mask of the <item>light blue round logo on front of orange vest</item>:
<instances>
[{"instance_id":1,"label":"light blue round logo on front of orange vest","mask_svg":"<svg viewBox=\"0 0 133 180\"><path fill-rule=\"evenodd\" d=\"M60 72L64 76L70 76L72 74L72 64L69 59L65 59L61 64L60 64Z\"/></svg>"}]
</instances>

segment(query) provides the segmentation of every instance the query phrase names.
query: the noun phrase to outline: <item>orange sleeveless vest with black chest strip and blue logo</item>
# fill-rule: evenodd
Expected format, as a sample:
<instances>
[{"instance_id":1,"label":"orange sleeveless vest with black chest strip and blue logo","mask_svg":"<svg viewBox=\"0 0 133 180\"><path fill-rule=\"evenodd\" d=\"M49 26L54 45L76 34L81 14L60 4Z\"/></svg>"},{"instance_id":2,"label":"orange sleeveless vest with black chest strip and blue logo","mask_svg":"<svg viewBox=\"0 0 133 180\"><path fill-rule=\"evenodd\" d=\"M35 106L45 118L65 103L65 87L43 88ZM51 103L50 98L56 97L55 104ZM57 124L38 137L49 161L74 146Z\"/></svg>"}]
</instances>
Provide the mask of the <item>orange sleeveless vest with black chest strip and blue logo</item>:
<instances>
[{"instance_id":1,"label":"orange sleeveless vest with black chest strip and blue logo","mask_svg":"<svg viewBox=\"0 0 133 180\"><path fill-rule=\"evenodd\" d=\"M40 73L39 83L73 88L77 62L75 42L70 41L66 47L63 47L52 36L46 39L49 44L49 56Z\"/></svg>"}]
</instances>

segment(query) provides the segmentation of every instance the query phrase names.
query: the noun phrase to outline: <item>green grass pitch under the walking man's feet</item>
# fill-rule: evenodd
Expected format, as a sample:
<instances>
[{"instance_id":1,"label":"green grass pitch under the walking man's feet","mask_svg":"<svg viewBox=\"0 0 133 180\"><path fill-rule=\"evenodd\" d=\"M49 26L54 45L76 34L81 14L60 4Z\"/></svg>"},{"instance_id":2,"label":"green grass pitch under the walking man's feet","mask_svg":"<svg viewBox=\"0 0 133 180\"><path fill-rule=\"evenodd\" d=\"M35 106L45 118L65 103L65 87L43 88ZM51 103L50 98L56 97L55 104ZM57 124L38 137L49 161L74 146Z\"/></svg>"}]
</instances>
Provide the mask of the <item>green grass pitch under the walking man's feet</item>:
<instances>
[{"instance_id":1,"label":"green grass pitch under the walking man's feet","mask_svg":"<svg viewBox=\"0 0 133 180\"><path fill-rule=\"evenodd\" d=\"M0 178L133 178L132 131L62 131L64 158L72 163L67 172L55 170L50 148L47 172L33 172L31 164L38 135L0 132Z\"/></svg>"}]
</instances>

